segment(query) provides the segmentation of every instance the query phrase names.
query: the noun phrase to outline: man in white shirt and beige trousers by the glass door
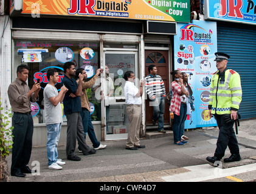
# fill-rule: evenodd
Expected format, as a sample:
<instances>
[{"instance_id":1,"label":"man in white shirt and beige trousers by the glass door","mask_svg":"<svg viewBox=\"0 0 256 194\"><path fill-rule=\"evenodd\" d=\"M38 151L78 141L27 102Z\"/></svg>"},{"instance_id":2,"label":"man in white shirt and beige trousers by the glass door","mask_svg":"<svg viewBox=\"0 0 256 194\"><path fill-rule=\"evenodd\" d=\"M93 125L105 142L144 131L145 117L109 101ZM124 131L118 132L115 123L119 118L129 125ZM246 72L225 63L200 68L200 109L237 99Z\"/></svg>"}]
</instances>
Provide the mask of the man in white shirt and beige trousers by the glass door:
<instances>
[{"instance_id":1,"label":"man in white shirt and beige trousers by the glass door","mask_svg":"<svg viewBox=\"0 0 256 194\"><path fill-rule=\"evenodd\" d=\"M128 138L126 142L126 149L137 150L138 148L145 148L140 146L139 131L141 122L141 96L143 93L143 84L145 81L140 82L140 89L134 85L134 73L131 71L125 72L125 102L127 104L126 113L130 121L128 129Z\"/></svg>"}]
</instances>

